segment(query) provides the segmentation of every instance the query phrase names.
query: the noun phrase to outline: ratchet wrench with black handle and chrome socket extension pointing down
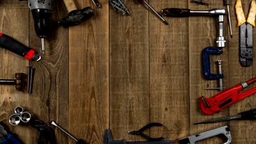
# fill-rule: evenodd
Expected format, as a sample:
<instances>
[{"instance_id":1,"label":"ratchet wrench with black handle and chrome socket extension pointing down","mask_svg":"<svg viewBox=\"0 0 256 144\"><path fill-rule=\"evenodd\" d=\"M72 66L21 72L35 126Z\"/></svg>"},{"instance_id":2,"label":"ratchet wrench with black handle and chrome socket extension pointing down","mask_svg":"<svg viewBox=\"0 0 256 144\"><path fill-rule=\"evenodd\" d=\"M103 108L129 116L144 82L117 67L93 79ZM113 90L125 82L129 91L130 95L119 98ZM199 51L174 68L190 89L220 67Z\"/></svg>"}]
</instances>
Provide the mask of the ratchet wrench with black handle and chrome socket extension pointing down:
<instances>
[{"instance_id":1,"label":"ratchet wrench with black handle and chrome socket extension pointing down","mask_svg":"<svg viewBox=\"0 0 256 144\"><path fill-rule=\"evenodd\" d=\"M218 17L219 21L219 36L216 38L216 47L225 47L226 40L223 34L224 15L225 9L211 9L211 10L190 10L179 8L166 8L161 10L161 14L169 17L188 17L188 16L213 16Z\"/></svg>"}]
</instances>

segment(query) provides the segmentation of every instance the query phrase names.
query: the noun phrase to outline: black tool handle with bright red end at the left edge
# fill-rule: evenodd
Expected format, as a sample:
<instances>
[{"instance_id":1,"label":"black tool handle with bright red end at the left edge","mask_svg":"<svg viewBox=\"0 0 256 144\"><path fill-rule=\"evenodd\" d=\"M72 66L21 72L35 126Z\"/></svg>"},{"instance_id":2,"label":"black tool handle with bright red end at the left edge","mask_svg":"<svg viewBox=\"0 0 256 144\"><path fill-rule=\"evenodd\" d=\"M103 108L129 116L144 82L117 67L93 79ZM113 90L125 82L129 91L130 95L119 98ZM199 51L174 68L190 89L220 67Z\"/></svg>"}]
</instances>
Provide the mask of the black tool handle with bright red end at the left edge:
<instances>
[{"instance_id":1,"label":"black tool handle with bright red end at the left edge","mask_svg":"<svg viewBox=\"0 0 256 144\"><path fill-rule=\"evenodd\" d=\"M29 60L32 59L34 53L36 52L24 44L21 44L19 41L2 33L0 33L0 47L3 47L4 49L14 52L17 55L20 55Z\"/></svg>"}]
</instances>

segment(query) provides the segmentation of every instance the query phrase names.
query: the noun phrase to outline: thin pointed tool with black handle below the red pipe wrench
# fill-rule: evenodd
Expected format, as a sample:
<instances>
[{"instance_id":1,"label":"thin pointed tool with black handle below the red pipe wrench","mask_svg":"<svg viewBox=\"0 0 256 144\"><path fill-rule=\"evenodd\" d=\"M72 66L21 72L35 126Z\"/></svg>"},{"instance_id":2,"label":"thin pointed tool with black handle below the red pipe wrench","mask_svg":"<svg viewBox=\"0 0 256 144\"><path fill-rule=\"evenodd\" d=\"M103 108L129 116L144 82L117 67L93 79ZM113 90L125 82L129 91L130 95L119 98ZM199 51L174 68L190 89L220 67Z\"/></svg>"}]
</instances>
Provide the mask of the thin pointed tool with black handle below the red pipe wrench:
<instances>
[{"instance_id":1,"label":"thin pointed tool with black handle below the red pipe wrench","mask_svg":"<svg viewBox=\"0 0 256 144\"><path fill-rule=\"evenodd\" d=\"M223 122L223 121L230 121L230 120L234 120L234 119L243 119L243 120L256 119L256 109L251 109L249 111L241 112L240 115L236 115L236 116L210 119L210 120L206 120L206 121L202 121L202 122L197 122L195 124Z\"/></svg>"}]
</instances>

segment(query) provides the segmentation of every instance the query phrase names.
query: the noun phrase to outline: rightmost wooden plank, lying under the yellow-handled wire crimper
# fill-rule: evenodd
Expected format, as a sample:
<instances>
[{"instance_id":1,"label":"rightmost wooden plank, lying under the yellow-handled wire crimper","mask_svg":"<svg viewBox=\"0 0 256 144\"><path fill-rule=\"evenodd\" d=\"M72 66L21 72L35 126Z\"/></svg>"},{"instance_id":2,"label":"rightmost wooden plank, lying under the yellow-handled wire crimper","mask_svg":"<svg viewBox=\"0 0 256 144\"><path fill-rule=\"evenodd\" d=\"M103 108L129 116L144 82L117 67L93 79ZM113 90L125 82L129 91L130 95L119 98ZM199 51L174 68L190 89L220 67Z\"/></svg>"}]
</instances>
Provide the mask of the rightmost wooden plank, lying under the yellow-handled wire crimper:
<instances>
[{"instance_id":1,"label":"rightmost wooden plank, lying under the yellow-handled wire crimper","mask_svg":"<svg viewBox=\"0 0 256 144\"><path fill-rule=\"evenodd\" d=\"M245 13L245 16L247 17L249 7L250 7L251 1L242 1L242 7L243 11ZM229 46L229 87L235 86L238 83L241 83L243 81L247 81L249 79L252 79L256 76L256 55L255 55L255 49L254 49L254 57L253 57L253 63L250 67L242 67L240 64L240 31L237 27L237 20L235 15L235 1L232 2L231 5L231 11L234 11L234 13L231 13L231 21L233 23L232 29L234 33L234 37L230 40L230 46ZM254 28L254 46L256 46L255 38L255 28ZM236 67L232 67L232 65L236 65ZM247 91L248 89L255 87L256 84L252 84L252 86L247 87L244 91ZM243 92L244 92L243 91ZM238 101L237 103L230 106L230 115L237 115L242 111L247 111L250 109L254 109L256 107L256 94L251 95L248 98L245 98L241 101ZM231 121L230 122L230 128L231 128L231 134L232 134L232 143L256 143L255 135L256 135L256 123L254 121Z\"/></svg>"}]
</instances>

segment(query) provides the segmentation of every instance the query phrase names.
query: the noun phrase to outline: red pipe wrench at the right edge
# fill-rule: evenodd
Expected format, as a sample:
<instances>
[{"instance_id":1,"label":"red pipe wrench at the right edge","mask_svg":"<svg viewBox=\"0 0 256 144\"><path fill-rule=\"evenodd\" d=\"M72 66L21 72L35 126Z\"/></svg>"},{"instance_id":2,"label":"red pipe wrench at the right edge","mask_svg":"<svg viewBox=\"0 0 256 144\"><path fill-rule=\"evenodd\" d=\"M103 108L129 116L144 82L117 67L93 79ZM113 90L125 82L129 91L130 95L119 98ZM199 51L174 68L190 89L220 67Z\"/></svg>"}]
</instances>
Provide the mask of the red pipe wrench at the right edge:
<instances>
[{"instance_id":1,"label":"red pipe wrench at the right edge","mask_svg":"<svg viewBox=\"0 0 256 144\"><path fill-rule=\"evenodd\" d=\"M234 87L230 87L216 95L212 98L206 98L202 96L200 98L200 108L201 111L207 115L211 115L214 112L222 111L224 107L236 103L236 101L242 100L249 95L256 93L256 87L249 89L246 92L240 93L243 88L246 88L249 84L256 81L256 77L253 79L242 82Z\"/></svg>"}]
</instances>

